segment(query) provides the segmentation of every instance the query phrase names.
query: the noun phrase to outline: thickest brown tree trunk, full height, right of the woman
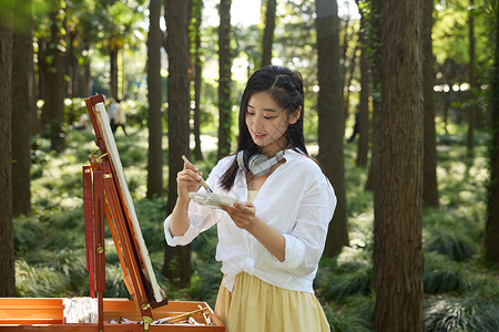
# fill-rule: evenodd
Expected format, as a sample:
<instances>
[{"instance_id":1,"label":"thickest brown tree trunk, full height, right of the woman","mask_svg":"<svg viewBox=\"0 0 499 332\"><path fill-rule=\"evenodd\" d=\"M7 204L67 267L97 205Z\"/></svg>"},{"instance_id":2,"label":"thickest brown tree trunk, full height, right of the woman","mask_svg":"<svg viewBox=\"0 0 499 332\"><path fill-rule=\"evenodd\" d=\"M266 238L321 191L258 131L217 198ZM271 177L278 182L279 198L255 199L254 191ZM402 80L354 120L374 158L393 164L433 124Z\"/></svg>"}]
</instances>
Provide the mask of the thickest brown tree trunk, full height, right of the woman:
<instances>
[{"instance_id":1,"label":"thickest brown tree trunk, full height, right of the woman","mask_svg":"<svg viewBox=\"0 0 499 332\"><path fill-rule=\"evenodd\" d=\"M421 11L422 0L383 1L375 331L424 331Z\"/></svg>"}]
</instances>

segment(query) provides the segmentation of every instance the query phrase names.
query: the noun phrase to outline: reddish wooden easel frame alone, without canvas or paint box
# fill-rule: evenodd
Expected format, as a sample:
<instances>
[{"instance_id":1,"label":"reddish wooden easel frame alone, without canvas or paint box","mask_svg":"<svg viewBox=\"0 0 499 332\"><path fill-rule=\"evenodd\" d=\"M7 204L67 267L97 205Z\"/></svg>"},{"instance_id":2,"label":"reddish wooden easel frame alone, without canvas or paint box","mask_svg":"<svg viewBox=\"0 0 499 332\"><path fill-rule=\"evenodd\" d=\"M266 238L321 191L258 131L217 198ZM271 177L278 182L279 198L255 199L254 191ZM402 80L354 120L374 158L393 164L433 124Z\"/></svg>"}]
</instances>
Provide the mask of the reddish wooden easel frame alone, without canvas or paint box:
<instances>
[{"instance_id":1,"label":"reddish wooden easel frame alone, without canvas or paint box","mask_svg":"<svg viewBox=\"0 0 499 332\"><path fill-rule=\"evenodd\" d=\"M116 172L111 162L108 146L99 131L99 122L95 118L94 107L103 103L102 95L95 95L88 100L90 118L95 131L99 149L89 156L90 166L83 166L83 196L85 210L85 247L86 266L90 278L90 295L98 297L99 303L99 331L103 331L103 292L105 290L105 246L104 246L104 219L113 237L114 246L120 258L124 274L124 282L136 309L140 312L144 330L153 322L151 308L167 304L164 297L162 301L154 300L151 284L145 277L144 263L141 259L141 248L130 221L123 193L118 183ZM100 155L98 153L100 152Z\"/></svg>"}]
</instances>

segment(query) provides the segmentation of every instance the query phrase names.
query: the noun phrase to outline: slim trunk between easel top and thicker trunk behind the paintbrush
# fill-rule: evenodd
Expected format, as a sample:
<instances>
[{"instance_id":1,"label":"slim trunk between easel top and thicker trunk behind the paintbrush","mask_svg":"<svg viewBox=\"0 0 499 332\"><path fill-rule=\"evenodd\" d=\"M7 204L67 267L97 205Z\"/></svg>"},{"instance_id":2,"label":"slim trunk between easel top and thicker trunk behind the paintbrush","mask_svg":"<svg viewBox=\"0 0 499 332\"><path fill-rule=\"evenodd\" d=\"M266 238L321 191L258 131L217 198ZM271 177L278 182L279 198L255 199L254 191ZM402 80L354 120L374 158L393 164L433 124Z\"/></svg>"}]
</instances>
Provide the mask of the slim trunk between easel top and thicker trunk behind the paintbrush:
<instances>
[{"instance_id":1,"label":"slim trunk between easel top and thicker trunk behind the paintbrush","mask_svg":"<svg viewBox=\"0 0 499 332\"><path fill-rule=\"evenodd\" d=\"M147 38L147 101L149 101L149 149L147 149L147 197L163 196L163 125L161 118L161 0L149 4Z\"/></svg>"}]
</instances>

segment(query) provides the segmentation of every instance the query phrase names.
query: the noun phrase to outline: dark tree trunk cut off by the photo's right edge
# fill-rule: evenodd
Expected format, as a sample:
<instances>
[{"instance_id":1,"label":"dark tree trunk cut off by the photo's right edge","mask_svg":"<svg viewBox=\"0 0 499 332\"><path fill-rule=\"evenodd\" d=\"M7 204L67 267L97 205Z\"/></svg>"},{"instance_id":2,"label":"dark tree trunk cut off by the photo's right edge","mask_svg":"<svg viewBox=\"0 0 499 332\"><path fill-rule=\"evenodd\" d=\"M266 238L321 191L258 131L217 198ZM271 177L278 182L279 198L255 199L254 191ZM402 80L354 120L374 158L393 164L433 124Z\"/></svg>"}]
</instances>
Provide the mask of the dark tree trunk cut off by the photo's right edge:
<instances>
[{"instance_id":1,"label":"dark tree trunk cut off by the photo's right edge","mask_svg":"<svg viewBox=\"0 0 499 332\"><path fill-rule=\"evenodd\" d=\"M490 127L489 143L490 181L487 200L486 257L499 263L499 10L496 7L496 50L490 92Z\"/></svg>"}]
</instances>

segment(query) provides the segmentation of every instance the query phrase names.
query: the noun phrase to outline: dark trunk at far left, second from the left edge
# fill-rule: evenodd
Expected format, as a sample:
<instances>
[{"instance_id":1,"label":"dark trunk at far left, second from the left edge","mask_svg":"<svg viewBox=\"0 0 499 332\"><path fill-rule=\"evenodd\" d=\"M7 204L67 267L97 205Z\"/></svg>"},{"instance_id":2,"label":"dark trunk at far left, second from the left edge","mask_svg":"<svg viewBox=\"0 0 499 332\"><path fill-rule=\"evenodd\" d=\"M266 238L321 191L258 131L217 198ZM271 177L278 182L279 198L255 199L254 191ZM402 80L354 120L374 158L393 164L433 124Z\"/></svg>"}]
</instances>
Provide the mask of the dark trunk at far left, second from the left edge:
<instances>
[{"instance_id":1,"label":"dark trunk at far left, second from the left edge","mask_svg":"<svg viewBox=\"0 0 499 332\"><path fill-rule=\"evenodd\" d=\"M31 1L14 2L14 18L22 19L26 31L13 34L12 42L12 211L31 214L31 118L33 108L33 20L26 18Z\"/></svg>"}]
</instances>

